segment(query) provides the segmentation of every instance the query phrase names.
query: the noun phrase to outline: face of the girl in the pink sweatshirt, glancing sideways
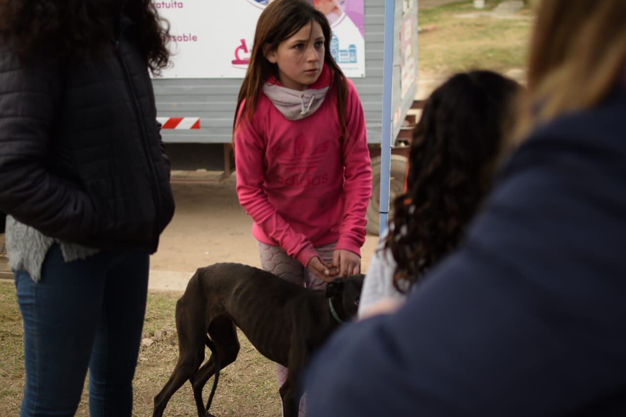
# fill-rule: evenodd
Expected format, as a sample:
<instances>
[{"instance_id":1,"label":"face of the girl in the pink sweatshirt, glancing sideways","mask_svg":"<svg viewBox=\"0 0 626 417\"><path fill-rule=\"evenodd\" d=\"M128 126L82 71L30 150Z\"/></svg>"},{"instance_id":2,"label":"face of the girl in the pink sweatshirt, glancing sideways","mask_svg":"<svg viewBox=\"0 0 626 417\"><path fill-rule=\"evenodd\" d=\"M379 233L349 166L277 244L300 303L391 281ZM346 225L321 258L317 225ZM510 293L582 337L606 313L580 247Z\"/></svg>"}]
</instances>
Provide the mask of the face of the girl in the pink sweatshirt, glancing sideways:
<instances>
[{"instance_id":1,"label":"face of the girl in the pink sweatshirt, glancing sideways","mask_svg":"<svg viewBox=\"0 0 626 417\"><path fill-rule=\"evenodd\" d=\"M292 90L306 90L317 81L324 64L324 33L316 21L305 24L265 58L277 64L279 81Z\"/></svg>"}]
</instances>

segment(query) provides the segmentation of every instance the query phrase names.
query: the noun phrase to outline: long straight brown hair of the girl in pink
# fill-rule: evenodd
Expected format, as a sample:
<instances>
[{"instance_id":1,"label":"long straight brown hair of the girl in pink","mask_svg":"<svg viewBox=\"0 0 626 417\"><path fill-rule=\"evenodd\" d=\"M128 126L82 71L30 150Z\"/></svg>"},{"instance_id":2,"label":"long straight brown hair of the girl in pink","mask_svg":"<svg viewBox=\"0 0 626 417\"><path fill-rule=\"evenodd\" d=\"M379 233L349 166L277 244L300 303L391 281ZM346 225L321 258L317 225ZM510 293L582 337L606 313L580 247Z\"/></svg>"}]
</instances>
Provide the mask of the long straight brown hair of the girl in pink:
<instances>
[{"instance_id":1,"label":"long straight brown hair of the girl in pink","mask_svg":"<svg viewBox=\"0 0 626 417\"><path fill-rule=\"evenodd\" d=\"M265 8L257 23L254 34L254 45L250 54L250 64L245 74L244 83L237 97L237 112L233 121L233 131L243 120L251 121L257 108L257 100L263 84L270 76L279 77L277 64L272 64L265 58L267 51L275 51L285 39L293 36L305 25L317 22L324 33L324 63L332 72L331 89L336 91L337 114L339 125L344 132L346 128L346 77L331 55L331 26L328 19L317 11L306 0L275 0ZM242 103L243 106L242 106ZM240 108L241 107L241 108Z\"/></svg>"}]
</instances>

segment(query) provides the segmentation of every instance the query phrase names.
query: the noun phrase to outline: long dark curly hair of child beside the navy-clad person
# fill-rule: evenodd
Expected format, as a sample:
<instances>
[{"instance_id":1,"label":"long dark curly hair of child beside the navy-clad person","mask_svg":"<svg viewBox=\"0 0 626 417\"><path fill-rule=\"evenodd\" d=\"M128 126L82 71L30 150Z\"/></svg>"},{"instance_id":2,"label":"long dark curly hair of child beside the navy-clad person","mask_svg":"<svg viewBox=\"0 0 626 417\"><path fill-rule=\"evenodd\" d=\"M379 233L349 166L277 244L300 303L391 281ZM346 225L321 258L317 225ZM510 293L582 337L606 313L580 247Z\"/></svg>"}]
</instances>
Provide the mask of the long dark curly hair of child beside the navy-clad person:
<instances>
[{"instance_id":1,"label":"long dark curly hair of child beside the navy-clad person","mask_svg":"<svg viewBox=\"0 0 626 417\"><path fill-rule=\"evenodd\" d=\"M491 186L520 86L491 71L454 75L426 101L414 130L406 192L394 200L384 247L406 292L458 245Z\"/></svg>"}]
</instances>

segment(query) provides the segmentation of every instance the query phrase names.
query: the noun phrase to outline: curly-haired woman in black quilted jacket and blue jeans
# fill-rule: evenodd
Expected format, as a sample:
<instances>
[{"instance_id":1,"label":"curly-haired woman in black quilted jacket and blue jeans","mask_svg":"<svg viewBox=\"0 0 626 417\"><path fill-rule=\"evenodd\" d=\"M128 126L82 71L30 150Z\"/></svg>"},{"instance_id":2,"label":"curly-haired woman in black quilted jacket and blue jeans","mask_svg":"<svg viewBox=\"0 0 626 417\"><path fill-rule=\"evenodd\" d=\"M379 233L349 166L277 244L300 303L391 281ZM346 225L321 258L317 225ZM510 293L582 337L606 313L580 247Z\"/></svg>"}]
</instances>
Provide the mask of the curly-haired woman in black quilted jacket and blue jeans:
<instances>
[{"instance_id":1,"label":"curly-haired woman in black quilted jacket and blue jeans","mask_svg":"<svg viewBox=\"0 0 626 417\"><path fill-rule=\"evenodd\" d=\"M24 320L23 416L130 416L148 255L172 219L149 0L0 1L0 211Z\"/></svg>"}]
</instances>

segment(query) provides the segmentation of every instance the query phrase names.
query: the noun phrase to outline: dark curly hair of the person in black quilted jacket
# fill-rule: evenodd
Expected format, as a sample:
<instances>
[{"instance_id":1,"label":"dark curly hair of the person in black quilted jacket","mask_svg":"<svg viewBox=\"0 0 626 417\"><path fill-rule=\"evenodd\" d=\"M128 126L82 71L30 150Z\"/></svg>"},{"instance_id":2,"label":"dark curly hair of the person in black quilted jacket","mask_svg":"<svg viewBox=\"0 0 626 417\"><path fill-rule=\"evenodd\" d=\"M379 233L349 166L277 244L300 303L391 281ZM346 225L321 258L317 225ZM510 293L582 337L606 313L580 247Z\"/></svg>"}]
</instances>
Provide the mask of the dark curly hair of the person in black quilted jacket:
<instances>
[{"instance_id":1,"label":"dark curly hair of the person in black quilted jacket","mask_svg":"<svg viewBox=\"0 0 626 417\"><path fill-rule=\"evenodd\" d=\"M24 62L34 55L90 56L113 43L122 9L136 25L150 70L158 73L169 63L169 24L151 0L0 0L0 39Z\"/></svg>"}]
</instances>

